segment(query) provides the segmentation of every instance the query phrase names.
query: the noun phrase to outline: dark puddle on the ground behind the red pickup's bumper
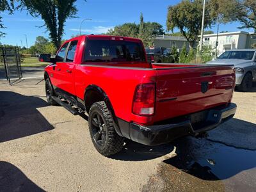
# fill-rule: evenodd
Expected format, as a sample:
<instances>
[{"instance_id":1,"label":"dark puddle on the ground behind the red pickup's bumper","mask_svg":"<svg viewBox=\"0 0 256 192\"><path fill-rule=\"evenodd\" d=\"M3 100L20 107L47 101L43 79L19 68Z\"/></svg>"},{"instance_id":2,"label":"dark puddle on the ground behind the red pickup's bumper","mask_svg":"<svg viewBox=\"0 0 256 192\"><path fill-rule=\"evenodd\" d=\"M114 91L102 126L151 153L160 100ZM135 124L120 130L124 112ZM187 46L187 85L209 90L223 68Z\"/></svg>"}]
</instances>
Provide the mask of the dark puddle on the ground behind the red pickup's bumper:
<instances>
[{"instance_id":1,"label":"dark puddle on the ground behind the red pickup's bumper","mask_svg":"<svg viewBox=\"0 0 256 192\"><path fill-rule=\"evenodd\" d=\"M166 159L164 163L203 180L228 179L256 168L255 150L237 149L194 138L179 141L176 146L177 156ZM253 174L256 175L256 169Z\"/></svg>"}]
</instances>

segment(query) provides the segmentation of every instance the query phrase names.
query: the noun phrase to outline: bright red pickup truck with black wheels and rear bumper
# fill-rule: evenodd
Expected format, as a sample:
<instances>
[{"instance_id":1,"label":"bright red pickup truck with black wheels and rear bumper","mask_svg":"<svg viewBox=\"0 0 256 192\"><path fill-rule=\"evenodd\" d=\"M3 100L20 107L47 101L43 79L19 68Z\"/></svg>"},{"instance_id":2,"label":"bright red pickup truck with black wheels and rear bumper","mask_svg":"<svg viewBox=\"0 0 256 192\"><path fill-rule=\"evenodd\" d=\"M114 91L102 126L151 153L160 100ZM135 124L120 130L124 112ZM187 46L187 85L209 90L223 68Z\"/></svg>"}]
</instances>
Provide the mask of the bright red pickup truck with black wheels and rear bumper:
<instances>
[{"instance_id":1,"label":"bright red pickup truck with black wheels and rear bumper","mask_svg":"<svg viewBox=\"0 0 256 192\"><path fill-rule=\"evenodd\" d=\"M145 145L168 143L232 118L232 65L147 62L141 40L83 35L67 40L56 58L42 54L49 104L88 113L95 148L104 156L122 150L124 138Z\"/></svg>"}]
</instances>

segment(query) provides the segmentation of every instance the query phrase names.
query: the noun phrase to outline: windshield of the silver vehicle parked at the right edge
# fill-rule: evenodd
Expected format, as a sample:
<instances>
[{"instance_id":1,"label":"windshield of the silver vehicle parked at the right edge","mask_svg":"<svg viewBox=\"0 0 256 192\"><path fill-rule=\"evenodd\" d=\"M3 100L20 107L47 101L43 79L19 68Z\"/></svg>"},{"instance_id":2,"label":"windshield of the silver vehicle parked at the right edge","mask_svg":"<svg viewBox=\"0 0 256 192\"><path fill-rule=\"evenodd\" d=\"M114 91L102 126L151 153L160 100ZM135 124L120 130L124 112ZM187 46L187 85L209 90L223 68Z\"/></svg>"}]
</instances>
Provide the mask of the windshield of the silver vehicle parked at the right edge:
<instances>
[{"instance_id":1,"label":"windshield of the silver vehicle parked at the right edge","mask_svg":"<svg viewBox=\"0 0 256 192\"><path fill-rule=\"evenodd\" d=\"M218 57L218 60L237 59L252 60L254 51L226 51Z\"/></svg>"}]
</instances>

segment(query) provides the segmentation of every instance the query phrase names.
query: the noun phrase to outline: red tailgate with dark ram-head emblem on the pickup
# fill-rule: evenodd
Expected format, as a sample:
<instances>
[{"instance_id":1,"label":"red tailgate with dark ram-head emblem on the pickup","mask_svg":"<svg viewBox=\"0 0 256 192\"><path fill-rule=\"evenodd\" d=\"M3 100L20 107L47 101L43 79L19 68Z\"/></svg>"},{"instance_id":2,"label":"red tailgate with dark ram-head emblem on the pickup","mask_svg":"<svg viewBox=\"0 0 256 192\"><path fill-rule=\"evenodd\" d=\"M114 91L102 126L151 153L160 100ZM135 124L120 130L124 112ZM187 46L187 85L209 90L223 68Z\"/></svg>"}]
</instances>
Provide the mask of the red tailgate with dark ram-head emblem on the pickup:
<instances>
[{"instance_id":1,"label":"red tailgate with dark ram-head emblem on the pickup","mask_svg":"<svg viewBox=\"0 0 256 192\"><path fill-rule=\"evenodd\" d=\"M227 104L232 98L235 82L232 65L153 67L157 74L157 121Z\"/></svg>"}]
</instances>

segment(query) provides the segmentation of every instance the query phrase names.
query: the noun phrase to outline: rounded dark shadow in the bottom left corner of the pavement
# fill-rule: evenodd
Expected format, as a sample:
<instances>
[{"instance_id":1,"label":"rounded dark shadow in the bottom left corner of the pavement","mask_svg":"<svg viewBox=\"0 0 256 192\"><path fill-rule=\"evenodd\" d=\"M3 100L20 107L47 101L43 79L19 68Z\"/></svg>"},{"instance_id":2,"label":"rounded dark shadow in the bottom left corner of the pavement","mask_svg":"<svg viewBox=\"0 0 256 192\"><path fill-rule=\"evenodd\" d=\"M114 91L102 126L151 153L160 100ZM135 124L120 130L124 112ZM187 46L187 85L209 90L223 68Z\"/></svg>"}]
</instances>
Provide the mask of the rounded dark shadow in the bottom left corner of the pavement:
<instances>
[{"instance_id":1,"label":"rounded dark shadow in the bottom left corner of the pavement","mask_svg":"<svg viewBox=\"0 0 256 192\"><path fill-rule=\"evenodd\" d=\"M0 161L0 191L44 191L28 179L19 168Z\"/></svg>"}]
</instances>

